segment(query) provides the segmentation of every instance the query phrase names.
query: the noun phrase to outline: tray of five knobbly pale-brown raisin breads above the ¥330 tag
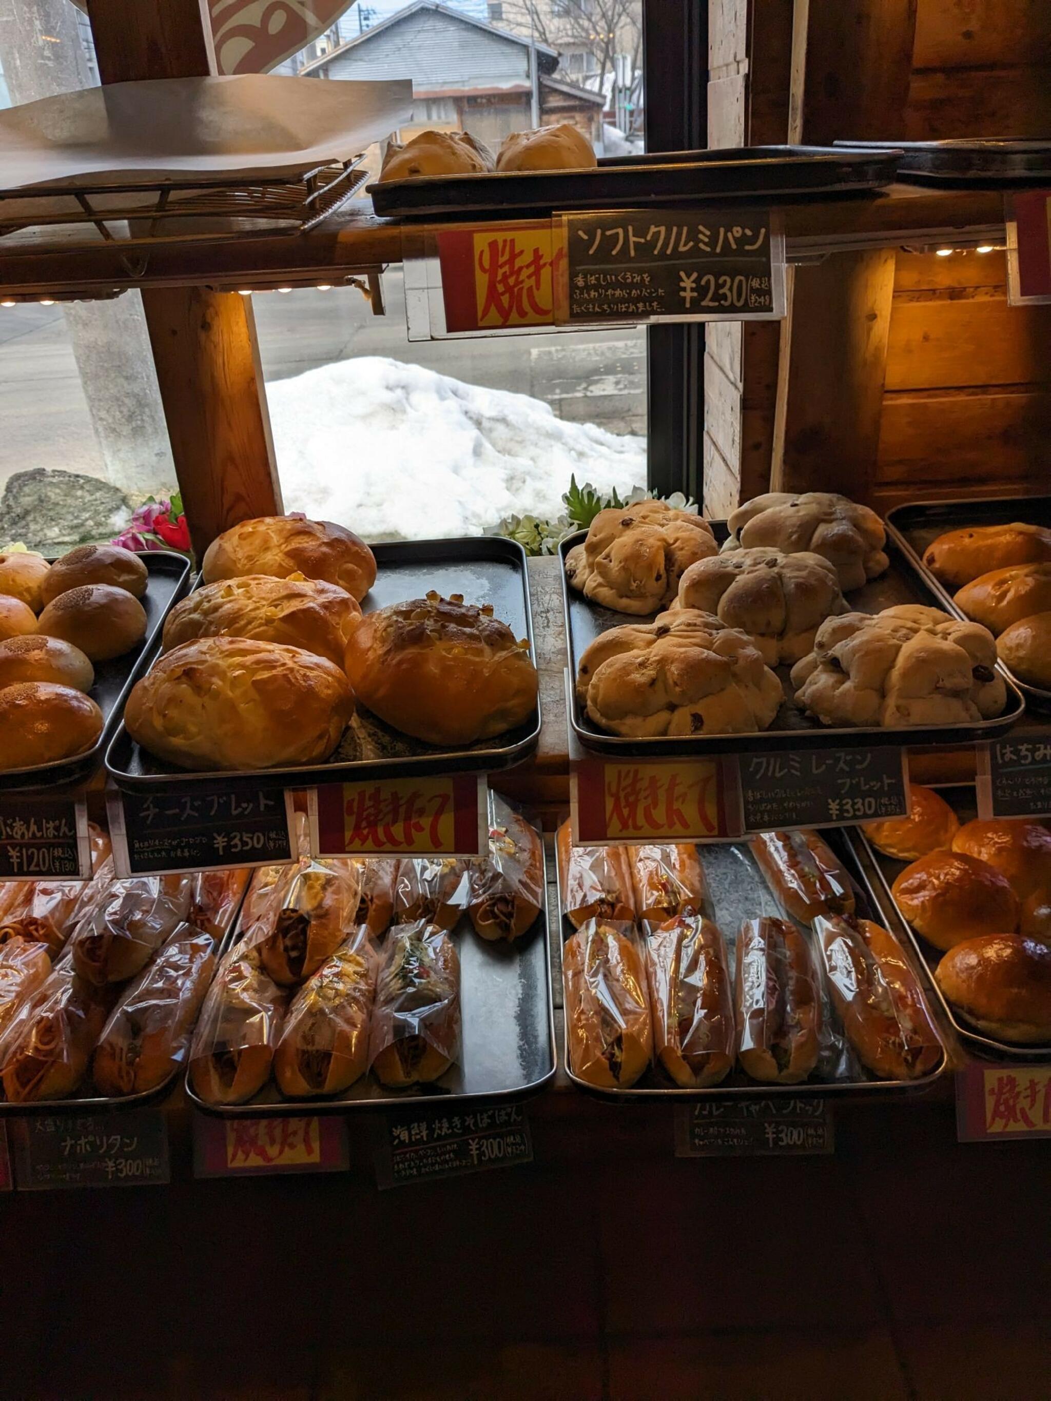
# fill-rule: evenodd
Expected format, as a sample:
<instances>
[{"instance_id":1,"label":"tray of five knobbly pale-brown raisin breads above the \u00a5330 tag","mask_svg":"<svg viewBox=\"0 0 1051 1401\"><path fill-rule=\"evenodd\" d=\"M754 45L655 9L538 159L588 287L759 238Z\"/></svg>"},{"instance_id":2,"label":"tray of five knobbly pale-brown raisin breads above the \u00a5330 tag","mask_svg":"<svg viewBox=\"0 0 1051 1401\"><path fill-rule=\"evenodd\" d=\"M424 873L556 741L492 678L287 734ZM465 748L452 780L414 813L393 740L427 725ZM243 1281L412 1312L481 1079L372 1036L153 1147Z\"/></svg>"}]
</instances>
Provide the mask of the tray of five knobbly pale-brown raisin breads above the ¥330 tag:
<instances>
[{"instance_id":1,"label":"tray of five knobbly pale-brown raisin breads above the \u00a5330 tag","mask_svg":"<svg viewBox=\"0 0 1051 1401\"><path fill-rule=\"evenodd\" d=\"M879 516L834 493L768 493L729 521L636 502L559 558L586 750L964 744L1024 710L991 633L959 621Z\"/></svg>"}]
</instances>

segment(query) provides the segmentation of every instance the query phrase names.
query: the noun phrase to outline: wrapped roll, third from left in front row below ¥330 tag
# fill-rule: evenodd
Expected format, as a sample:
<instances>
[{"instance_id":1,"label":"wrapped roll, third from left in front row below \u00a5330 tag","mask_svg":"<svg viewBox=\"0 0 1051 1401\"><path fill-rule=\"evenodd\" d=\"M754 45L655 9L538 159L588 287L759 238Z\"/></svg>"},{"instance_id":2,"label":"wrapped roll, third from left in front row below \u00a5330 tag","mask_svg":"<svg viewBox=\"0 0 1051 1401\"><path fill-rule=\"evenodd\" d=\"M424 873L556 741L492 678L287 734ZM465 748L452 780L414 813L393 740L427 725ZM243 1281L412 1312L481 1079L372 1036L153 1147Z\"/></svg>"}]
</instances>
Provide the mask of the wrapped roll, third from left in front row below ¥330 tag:
<instances>
[{"instance_id":1,"label":"wrapped roll, third from left in front row below \u00a5330 tag","mask_svg":"<svg viewBox=\"0 0 1051 1401\"><path fill-rule=\"evenodd\" d=\"M799 1084L821 1054L821 989L810 941L786 919L746 919L737 934L741 1069L764 1084Z\"/></svg>"}]
</instances>

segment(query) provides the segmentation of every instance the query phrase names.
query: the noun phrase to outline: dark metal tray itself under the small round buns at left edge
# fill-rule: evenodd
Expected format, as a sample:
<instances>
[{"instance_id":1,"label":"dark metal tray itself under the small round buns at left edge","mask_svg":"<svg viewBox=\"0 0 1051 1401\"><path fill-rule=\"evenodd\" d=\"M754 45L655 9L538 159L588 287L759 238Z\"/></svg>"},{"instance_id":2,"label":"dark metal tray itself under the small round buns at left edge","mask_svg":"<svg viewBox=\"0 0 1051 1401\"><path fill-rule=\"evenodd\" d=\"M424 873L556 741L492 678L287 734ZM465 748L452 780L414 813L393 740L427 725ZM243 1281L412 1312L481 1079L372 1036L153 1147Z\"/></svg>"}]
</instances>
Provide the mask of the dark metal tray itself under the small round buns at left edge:
<instances>
[{"instance_id":1,"label":"dark metal tray itself under the small round buns at left edge","mask_svg":"<svg viewBox=\"0 0 1051 1401\"><path fill-rule=\"evenodd\" d=\"M85 754L55 764L38 764L31 769L7 769L0 773L0 792L52 792L87 782L101 766L107 745L114 738L123 715L128 692L151 660L161 625L172 607L189 587L189 560L170 551L147 551L139 556L149 572L142 605L146 609L146 636L122 657L95 661L95 684L88 695L102 710L102 734Z\"/></svg>"}]
</instances>

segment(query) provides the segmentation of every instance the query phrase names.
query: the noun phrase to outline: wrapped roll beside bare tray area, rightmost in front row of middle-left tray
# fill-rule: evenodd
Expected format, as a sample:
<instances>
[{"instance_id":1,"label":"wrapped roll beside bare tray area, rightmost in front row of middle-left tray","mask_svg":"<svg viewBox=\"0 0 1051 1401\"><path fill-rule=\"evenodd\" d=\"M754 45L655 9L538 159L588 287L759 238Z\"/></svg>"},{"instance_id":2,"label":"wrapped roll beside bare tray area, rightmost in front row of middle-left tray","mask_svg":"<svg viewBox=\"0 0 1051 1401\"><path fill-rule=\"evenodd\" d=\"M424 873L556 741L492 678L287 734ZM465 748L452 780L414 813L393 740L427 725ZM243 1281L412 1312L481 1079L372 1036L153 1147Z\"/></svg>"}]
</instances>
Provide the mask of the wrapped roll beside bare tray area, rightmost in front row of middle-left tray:
<instances>
[{"instance_id":1,"label":"wrapped roll beside bare tray area, rightmost in front row of middle-left tray","mask_svg":"<svg viewBox=\"0 0 1051 1401\"><path fill-rule=\"evenodd\" d=\"M460 955L437 925L392 929L376 981L369 1063L391 1089L437 1080L460 1056Z\"/></svg>"}]
</instances>

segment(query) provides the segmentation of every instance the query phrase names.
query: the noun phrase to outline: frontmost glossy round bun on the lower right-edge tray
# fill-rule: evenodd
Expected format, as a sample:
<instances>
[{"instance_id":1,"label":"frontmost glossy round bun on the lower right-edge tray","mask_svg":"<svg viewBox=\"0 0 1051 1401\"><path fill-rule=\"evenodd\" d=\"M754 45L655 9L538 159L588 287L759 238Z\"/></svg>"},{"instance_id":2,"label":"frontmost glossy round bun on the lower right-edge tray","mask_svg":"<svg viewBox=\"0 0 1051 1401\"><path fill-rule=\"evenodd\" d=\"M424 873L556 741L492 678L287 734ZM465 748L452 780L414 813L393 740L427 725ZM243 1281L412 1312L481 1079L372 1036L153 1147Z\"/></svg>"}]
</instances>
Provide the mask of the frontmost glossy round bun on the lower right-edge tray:
<instances>
[{"instance_id":1,"label":"frontmost glossy round bun on the lower right-edge tray","mask_svg":"<svg viewBox=\"0 0 1051 1401\"><path fill-rule=\"evenodd\" d=\"M1019 934L956 944L935 969L946 1000L999 1041L1051 1042L1051 947Z\"/></svg>"}]
</instances>

